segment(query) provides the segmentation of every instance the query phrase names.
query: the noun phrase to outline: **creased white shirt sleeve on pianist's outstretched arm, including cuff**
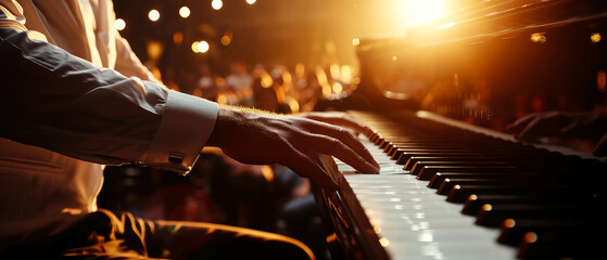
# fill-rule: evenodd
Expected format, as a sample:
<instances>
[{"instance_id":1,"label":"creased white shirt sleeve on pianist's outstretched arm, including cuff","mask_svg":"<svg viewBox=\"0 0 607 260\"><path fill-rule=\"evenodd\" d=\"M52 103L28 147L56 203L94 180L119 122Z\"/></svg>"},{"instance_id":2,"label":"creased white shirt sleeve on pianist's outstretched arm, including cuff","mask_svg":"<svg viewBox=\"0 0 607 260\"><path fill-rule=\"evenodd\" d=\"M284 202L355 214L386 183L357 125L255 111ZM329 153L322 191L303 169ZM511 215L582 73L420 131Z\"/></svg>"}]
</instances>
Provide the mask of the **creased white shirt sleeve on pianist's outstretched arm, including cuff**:
<instances>
[{"instance_id":1,"label":"creased white shirt sleeve on pianist's outstretched arm, including cuff","mask_svg":"<svg viewBox=\"0 0 607 260\"><path fill-rule=\"evenodd\" d=\"M13 10L0 4L0 136L98 164L191 169L216 103L34 40Z\"/></svg>"}]
</instances>

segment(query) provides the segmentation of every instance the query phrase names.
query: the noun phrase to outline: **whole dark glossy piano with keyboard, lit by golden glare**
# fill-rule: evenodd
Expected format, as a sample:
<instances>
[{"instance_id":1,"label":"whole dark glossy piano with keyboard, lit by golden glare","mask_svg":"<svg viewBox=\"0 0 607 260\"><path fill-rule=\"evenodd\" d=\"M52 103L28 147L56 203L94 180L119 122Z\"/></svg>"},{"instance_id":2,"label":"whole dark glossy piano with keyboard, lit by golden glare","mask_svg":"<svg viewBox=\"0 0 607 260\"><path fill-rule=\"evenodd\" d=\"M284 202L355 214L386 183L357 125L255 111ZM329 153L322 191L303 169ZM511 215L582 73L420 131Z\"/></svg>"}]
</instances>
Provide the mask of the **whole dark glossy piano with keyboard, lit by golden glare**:
<instances>
[{"instance_id":1,"label":"whole dark glossy piano with keyboard, lit by golden glare","mask_svg":"<svg viewBox=\"0 0 607 260\"><path fill-rule=\"evenodd\" d=\"M314 187L332 259L605 259L607 165L573 140L505 126L606 101L607 1L460 0L396 39L361 41L347 110L381 166L329 156ZM548 142L558 141L558 143Z\"/></svg>"}]
</instances>

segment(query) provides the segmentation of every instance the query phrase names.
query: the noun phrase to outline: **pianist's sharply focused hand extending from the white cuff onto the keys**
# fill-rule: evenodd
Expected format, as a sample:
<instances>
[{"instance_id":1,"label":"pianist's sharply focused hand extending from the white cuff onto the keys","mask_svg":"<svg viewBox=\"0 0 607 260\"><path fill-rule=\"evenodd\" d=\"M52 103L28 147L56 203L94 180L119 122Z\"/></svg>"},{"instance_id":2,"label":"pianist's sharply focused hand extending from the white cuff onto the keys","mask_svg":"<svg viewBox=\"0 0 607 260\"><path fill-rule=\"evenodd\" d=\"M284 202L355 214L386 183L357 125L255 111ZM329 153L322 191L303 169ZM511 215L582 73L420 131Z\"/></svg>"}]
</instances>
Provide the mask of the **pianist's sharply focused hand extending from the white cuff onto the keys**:
<instances>
[{"instance_id":1,"label":"pianist's sharply focused hand extending from the white cuff onto the keys","mask_svg":"<svg viewBox=\"0 0 607 260\"><path fill-rule=\"evenodd\" d=\"M243 164L279 164L337 190L337 183L318 165L318 153L332 155L361 172L379 170L370 153L342 127L305 117L250 113L220 107L207 145L220 147Z\"/></svg>"}]
</instances>

